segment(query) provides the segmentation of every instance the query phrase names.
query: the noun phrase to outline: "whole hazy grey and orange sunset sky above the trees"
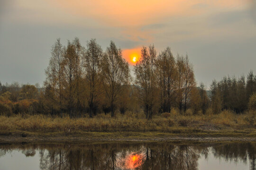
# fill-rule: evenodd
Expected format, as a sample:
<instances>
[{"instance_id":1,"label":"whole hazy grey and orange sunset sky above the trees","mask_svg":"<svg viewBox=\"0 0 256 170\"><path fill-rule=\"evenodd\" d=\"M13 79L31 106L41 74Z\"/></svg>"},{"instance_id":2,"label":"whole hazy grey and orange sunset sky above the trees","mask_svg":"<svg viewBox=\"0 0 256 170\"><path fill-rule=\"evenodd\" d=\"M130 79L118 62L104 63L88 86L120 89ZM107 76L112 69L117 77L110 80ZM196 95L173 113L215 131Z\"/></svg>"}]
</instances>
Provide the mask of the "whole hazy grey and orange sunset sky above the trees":
<instances>
[{"instance_id":1,"label":"whole hazy grey and orange sunset sky above the trees","mask_svg":"<svg viewBox=\"0 0 256 170\"><path fill-rule=\"evenodd\" d=\"M256 0L0 0L0 82L43 85L51 46L113 40L188 54L197 83L256 72Z\"/></svg>"}]
</instances>

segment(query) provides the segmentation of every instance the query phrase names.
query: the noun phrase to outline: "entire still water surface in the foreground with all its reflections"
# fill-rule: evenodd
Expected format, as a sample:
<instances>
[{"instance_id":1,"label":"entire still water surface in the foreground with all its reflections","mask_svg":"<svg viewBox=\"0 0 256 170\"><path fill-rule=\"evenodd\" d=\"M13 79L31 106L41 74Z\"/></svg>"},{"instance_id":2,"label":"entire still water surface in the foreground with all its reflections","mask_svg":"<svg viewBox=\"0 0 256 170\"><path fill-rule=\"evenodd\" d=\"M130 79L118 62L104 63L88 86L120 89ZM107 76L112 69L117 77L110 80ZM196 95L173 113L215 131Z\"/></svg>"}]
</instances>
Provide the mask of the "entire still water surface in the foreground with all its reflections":
<instances>
[{"instance_id":1,"label":"entire still water surface in the foreground with all its reflections","mask_svg":"<svg viewBox=\"0 0 256 170\"><path fill-rule=\"evenodd\" d=\"M0 170L256 170L256 143L0 144Z\"/></svg>"}]
</instances>

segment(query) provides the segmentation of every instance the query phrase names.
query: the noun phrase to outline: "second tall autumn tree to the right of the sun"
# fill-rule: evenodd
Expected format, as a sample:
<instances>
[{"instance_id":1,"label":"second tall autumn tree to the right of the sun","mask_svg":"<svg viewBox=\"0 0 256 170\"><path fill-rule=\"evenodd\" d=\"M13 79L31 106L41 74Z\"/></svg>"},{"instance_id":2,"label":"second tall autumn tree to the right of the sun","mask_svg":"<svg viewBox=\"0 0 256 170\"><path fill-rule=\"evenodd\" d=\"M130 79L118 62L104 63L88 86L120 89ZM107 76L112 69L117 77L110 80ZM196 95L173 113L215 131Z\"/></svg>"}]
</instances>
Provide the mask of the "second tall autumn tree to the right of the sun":
<instances>
[{"instance_id":1,"label":"second tall autumn tree to the right of the sun","mask_svg":"<svg viewBox=\"0 0 256 170\"><path fill-rule=\"evenodd\" d=\"M167 47L156 59L156 80L160 89L162 112L170 112L177 85L177 68L171 49Z\"/></svg>"}]
</instances>

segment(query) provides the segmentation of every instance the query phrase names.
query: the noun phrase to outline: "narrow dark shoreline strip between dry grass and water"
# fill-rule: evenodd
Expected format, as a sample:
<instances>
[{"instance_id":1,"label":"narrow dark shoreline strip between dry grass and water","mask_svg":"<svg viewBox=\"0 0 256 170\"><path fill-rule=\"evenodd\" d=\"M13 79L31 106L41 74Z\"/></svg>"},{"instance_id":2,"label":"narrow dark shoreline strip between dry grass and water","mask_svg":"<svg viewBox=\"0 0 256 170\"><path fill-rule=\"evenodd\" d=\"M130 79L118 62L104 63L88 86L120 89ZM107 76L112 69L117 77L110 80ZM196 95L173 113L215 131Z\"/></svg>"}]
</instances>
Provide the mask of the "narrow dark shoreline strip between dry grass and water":
<instances>
[{"instance_id":1,"label":"narrow dark shoreline strip between dry grass and water","mask_svg":"<svg viewBox=\"0 0 256 170\"><path fill-rule=\"evenodd\" d=\"M40 133L40 132L39 132ZM0 133L0 144L6 143L73 143L73 142L256 142L256 136L228 133L173 134L161 132L80 132L63 134L29 133L24 131ZM218 136L217 136L218 135Z\"/></svg>"}]
</instances>

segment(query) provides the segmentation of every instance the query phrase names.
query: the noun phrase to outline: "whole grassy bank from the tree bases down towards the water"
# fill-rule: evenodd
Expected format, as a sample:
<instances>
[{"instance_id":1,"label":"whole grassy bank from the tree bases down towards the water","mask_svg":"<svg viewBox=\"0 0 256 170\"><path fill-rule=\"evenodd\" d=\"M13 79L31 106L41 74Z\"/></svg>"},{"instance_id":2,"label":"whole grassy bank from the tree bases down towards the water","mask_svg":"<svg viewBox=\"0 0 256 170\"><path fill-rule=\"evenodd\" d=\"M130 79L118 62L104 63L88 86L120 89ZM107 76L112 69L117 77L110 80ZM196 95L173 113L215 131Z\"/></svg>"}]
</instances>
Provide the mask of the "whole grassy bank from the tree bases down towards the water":
<instances>
[{"instance_id":1,"label":"whole grassy bank from the tree bases down towards the water","mask_svg":"<svg viewBox=\"0 0 256 170\"><path fill-rule=\"evenodd\" d=\"M24 134L28 136L249 136L256 137L255 112L235 114L179 115L164 113L147 120L141 114L99 114L94 118L59 118L45 115L0 116L0 135ZM27 136L26 135L26 136Z\"/></svg>"}]
</instances>

